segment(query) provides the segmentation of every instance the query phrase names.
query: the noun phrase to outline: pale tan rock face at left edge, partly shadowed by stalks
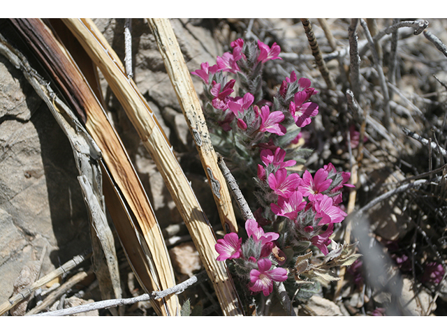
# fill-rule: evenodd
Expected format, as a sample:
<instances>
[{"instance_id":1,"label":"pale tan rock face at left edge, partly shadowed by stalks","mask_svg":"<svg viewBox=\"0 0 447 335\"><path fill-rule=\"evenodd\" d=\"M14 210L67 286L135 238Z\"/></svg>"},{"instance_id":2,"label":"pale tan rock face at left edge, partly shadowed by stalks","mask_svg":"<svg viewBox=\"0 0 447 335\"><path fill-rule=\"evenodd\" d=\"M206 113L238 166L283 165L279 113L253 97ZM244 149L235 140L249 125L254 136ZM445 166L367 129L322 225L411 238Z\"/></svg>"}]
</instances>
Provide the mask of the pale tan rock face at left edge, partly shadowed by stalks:
<instances>
[{"instance_id":1,"label":"pale tan rock face at left edge, partly shadowed by stalks","mask_svg":"<svg viewBox=\"0 0 447 335\"><path fill-rule=\"evenodd\" d=\"M0 56L0 302L25 266L41 276L89 248L73 152L20 70Z\"/></svg>"}]
</instances>

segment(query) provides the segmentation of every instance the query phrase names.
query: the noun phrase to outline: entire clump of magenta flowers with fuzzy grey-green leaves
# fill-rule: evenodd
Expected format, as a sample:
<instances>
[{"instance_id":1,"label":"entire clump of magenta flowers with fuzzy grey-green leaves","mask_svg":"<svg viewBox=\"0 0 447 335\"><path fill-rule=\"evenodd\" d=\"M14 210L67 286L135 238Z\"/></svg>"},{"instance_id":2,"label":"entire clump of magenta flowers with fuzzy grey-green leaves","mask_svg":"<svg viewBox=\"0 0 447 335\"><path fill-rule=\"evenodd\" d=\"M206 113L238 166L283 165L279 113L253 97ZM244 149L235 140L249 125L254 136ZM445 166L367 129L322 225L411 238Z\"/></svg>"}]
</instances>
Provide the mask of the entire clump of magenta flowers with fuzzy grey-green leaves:
<instances>
[{"instance_id":1,"label":"entire clump of magenta flowers with fuzzy grey-green leaves","mask_svg":"<svg viewBox=\"0 0 447 335\"><path fill-rule=\"evenodd\" d=\"M245 223L244 242L230 232L215 248L217 260L231 260L251 292L267 296L274 282L288 278L287 262L293 261L297 246L313 244L328 254L334 225L346 216L339 205L342 188L351 186L346 184L350 174L331 163L314 174L290 171L304 162L291 145L318 114L318 105L310 101L318 92L309 79L298 79L292 71L273 102L264 100L263 67L281 59L281 48L241 38L230 46L233 51L217 57L215 65L205 62L192 74L203 80L203 107L214 147L233 165L246 167L261 206L254 212L256 220Z\"/></svg>"}]
</instances>

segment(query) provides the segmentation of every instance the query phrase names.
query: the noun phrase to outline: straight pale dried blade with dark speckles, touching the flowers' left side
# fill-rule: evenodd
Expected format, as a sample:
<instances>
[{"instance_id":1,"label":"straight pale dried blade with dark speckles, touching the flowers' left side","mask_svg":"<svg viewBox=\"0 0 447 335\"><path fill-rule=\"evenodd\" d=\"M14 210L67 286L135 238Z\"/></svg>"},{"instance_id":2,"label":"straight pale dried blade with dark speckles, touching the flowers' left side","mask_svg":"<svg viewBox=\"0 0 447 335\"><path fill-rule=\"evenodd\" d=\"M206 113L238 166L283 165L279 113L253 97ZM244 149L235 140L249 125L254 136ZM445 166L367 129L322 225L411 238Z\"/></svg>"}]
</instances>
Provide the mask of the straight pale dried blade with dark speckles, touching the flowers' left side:
<instances>
[{"instance_id":1,"label":"straight pale dried blade with dark speckles, touching the flowers' left side","mask_svg":"<svg viewBox=\"0 0 447 335\"><path fill-rule=\"evenodd\" d=\"M226 232L237 232L236 217L230 193L221 170L217 166L217 155L212 146L202 107L173 27L171 27L168 19L147 19L147 21L156 38L157 45L159 45L170 81L175 89L175 94L177 94L189 130L196 142L200 161L207 174L223 229Z\"/></svg>"}]
</instances>

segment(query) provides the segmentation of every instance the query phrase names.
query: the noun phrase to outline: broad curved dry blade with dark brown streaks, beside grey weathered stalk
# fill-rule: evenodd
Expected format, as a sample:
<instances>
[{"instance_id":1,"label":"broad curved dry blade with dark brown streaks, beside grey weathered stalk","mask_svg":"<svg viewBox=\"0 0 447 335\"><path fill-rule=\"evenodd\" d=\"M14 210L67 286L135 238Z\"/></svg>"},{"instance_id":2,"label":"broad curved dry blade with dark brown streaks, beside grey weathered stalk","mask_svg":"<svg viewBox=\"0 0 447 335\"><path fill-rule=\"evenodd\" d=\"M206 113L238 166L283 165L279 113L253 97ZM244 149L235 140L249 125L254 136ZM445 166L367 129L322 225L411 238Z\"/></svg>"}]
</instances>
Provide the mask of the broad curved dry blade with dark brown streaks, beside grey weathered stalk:
<instances>
[{"instance_id":1,"label":"broad curved dry blade with dark brown streaks, beside grey weathered stalk","mask_svg":"<svg viewBox=\"0 0 447 335\"><path fill-rule=\"evenodd\" d=\"M107 172L115 183L115 189L103 193L105 202L115 221L115 228L126 249L129 262L134 271L136 269L135 272L141 280L142 287L151 292L175 285L170 258L149 198L124 145L110 124L102 105L87 84L87 79L80 71L80 67L89 62L91 64L91 60L82 58L82 65L75 64L71 54L61 44L64 37L57 39L42 20L11 19L11 22L17 32L23 38L27 38L28 46L34 51L34 57L44 64L45 70L50 73L54 83L70 101L73 110L83 116L85 128L101 149L103 154L103 161L100 161L101 168L107 165L103 169L103 175ZM64 24L61 26L62 28L59 27L59 29L66 29ZM68 29L65 32L70 34ZM79 52L78 49L72 52ZM92 71L92 68L90 70ZM87 74L91 75L91 73ZM105 182L103 186L106 187L107 184ZM127 214L119 217L115 216L114 211L122 208L123 202L114 202L115 194L125 199L126 211L128 211ZM110 202L113 202L113 205ZM136 223L129 222L129 217L135 218ZM135 228L134 224L138 225L138 228ZM139 262L138 266L132 258ZM156 301L154 309L159 315L177 315L179 313L178 299L172 296L167 297L166 301Z\"/></svg>"}]
</instances>

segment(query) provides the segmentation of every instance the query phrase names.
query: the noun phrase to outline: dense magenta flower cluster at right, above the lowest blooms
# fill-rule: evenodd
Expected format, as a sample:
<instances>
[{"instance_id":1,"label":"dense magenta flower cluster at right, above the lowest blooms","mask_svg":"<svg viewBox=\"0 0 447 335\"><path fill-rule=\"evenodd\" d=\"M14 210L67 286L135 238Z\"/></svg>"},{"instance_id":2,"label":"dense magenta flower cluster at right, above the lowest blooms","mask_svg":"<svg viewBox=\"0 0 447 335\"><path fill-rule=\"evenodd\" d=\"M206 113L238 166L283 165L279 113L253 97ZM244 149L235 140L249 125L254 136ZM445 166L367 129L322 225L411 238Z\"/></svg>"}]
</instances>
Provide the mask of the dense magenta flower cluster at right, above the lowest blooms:
<instances>
[{"instance_id":1,"label":"dense magenta flower cluster at right, above the lowest blooms","mask_svg":"<svg viewBox=\"0 0 447 335\"><path fill-rule=\"evenodd\" d=\"M263 157L284 156L283 149L261 151ZM335 223L341 223L346 213L340 209L342 188L350 174L337 172L329 163L317 170L312 176L305 171L302 177L298 173L288 173L284 165L291 161L264 159L258 165L258 182L265 190L263 198L270 200L270 209L276 216L284 216L288 233L293 243L310 241L325 255L328 254L330 235ZM268 163L266 163L268 162ZM270 188L270 190L268 190Z\"/></svg>"}]
</instances>

